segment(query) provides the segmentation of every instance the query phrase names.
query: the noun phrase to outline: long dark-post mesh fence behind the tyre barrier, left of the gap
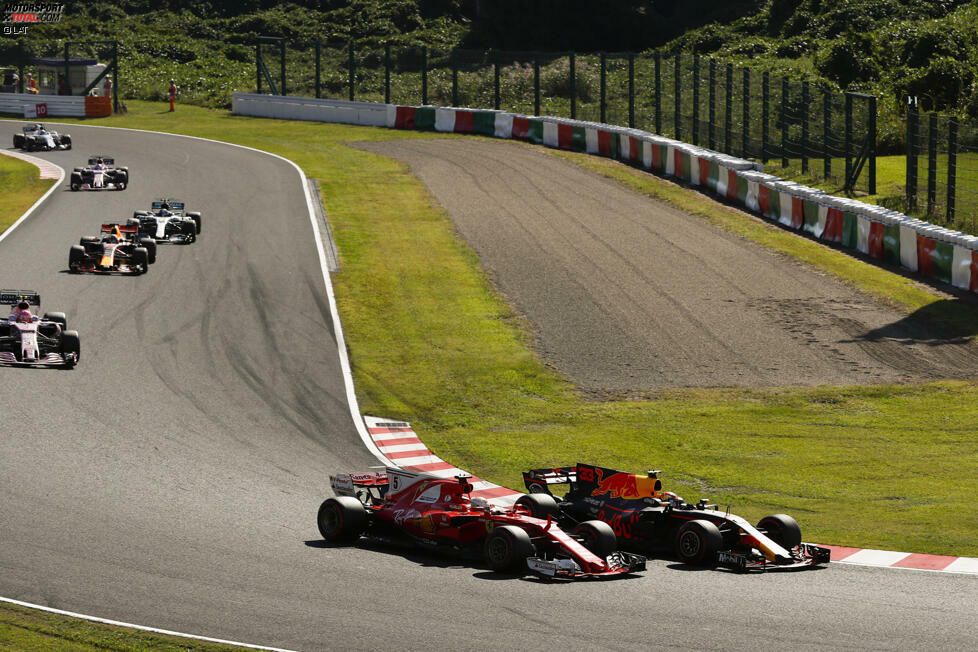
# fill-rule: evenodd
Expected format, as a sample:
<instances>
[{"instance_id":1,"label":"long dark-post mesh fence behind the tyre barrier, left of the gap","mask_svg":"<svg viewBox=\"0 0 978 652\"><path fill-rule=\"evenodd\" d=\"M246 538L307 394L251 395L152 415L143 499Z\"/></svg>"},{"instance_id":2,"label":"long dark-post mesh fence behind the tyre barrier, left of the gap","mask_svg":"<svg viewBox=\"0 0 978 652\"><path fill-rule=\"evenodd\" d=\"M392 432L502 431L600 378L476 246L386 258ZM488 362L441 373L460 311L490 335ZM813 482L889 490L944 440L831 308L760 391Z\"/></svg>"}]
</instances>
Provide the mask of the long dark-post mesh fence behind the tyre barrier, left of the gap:
<instances>
[{"instance_id":1,"label":"long dark-post mesh fence behind the tyre barrier, left of the gap","mask_svg":"<svg viewBox=\"0 0 978 652\"><path fill-rule=\"evenodd\" d=\"M876 192L876 98L688 54L436 50L259 39L257 92L617 124Z\"/></svg>"}]
</instances>

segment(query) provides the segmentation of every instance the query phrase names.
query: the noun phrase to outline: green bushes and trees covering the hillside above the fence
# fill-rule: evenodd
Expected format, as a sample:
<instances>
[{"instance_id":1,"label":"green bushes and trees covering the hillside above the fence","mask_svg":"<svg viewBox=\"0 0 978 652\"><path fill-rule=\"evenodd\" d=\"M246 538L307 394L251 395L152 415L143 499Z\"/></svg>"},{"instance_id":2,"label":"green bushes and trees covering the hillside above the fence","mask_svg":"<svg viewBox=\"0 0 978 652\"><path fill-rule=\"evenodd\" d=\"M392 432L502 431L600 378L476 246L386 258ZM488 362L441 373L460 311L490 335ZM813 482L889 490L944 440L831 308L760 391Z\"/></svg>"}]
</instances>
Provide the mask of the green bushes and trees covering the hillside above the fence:
<instances>
[{"instance_id":1,"label":"green bushes and trees covering the hillside above the fence","mask_svg":"<svg viewBox=\"0 0 978 652\"><path fill-rule=\"evenodd\" d=\"M161 99L174 77L181 102L205 106L228 106L233 90L254 90L254 43L267 35L287 39L288 85L307 94L314 93L317 40L352 39L358 50L377 51L384 43L431 50L659 49L710 54L758 73L895 98L897 105L912 94L927 110L978 117L978 6L968 0L169 0L162 6L168 10L149 0L72 3L62 23L32 28L27 42L57 53L78 34L116 39L127 99ZM12 62L14 48L10 39L0 42L0 64ZM527 90L525 58L520 65L522 71L504 72L514 97ZM325 89L345 94L344 66L342 53L324 62ZM358 72L358 84L362 76L375 99L383 96L379 67L375 58L374 72ZM439 75L433 74L432 98L444 97L445 87L450 94L450 80ZM569 98L567 77L553 64L545 63L541 75L551 101ZM596 79L579 72L579 99L596 97ZM419 79L393 84L420 97ZM473 77L460 84L471 105L490 105L481 102L491 102L491 82Z\"/></svg>"}]
</instances>

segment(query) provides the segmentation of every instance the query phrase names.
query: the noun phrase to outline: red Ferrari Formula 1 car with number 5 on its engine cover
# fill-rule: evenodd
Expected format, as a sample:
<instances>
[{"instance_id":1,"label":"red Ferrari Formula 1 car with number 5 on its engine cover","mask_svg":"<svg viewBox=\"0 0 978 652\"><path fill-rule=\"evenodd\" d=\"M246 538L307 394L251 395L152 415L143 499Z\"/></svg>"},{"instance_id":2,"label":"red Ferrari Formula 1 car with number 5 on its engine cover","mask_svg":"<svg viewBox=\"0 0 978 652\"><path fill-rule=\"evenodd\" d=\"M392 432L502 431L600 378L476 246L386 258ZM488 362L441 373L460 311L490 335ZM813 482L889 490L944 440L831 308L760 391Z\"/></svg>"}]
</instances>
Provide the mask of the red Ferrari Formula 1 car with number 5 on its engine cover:
<instances>
[{"instance_id":1,"label":"red Ferrari Formula 1 car with number 5 on its engine cover","mask_svg":"<svg viewBox=\"0 0 978 652\"><path fill-rule=\"evenodd\" d=\"M369 536L481 552L498 572L572 579L645 570L645 557L617 550L606 523L584 521L567 532L553 520L551 496L521 496L512 507L495 507L470 498L468 480L393 467L330 476L336 497L319 507L319 531L329 542Z\"/></svg>"}]
</instances>

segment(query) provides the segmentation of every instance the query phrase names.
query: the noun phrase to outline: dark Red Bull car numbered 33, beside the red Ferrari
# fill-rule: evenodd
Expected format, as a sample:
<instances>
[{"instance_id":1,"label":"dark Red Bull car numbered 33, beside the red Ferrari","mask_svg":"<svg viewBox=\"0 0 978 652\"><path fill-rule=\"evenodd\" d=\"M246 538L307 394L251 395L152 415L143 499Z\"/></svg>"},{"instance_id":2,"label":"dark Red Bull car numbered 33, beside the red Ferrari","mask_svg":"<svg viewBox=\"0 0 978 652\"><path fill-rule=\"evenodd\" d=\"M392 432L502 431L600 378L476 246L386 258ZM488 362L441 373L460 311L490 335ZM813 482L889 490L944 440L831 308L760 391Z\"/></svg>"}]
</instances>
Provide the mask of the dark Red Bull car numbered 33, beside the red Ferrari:
<instances>
[{"instance_id":1,"label":"dark Red Bull car numbered 33, beside the red Ferrari","mask_svg":"<svg viewBox=\"0 0 978 652\"><path fill-rule=\"evenodd\" d=\"M523 481L534 495L552 496L552 487L568 485L558 500L558 521L568 527L601 520L623 547L671 550L685 563L740 571L798 569L829 561L828 548L802 543L801 528L787 514L751 525L721 512L708 499L694 505L663 491L658 471L636 474L579 463L526 471Z\"/></svg>"}]
</instances>

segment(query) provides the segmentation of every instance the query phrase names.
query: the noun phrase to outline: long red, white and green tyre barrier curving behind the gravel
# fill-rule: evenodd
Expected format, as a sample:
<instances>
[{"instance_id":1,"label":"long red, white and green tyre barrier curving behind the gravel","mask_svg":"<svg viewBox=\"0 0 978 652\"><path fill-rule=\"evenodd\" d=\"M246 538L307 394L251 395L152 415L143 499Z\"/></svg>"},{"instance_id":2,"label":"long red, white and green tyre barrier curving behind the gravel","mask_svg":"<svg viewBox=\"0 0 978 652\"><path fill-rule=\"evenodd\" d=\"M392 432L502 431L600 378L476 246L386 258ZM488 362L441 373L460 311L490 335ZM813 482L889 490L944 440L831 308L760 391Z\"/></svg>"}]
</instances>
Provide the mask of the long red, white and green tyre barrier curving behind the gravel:
<instances>
[{"instance_id":1,"label":"long red, white and green tyre barrier curving behind the gravel","mask_svg":"<svg viewBox=\"0 0 978 652\"><path fill-rule=\"evenodd\" d=\"M296 105L304 108L283 108ZM759 163L637 129L505 111L234 94L234 112L512 138L675 177L785 228L978 292L978 237L763 172ZM302 117L297 117L301 113ZM379 120L379 117L383 117Z\"/></svg>"}]
</instances>

